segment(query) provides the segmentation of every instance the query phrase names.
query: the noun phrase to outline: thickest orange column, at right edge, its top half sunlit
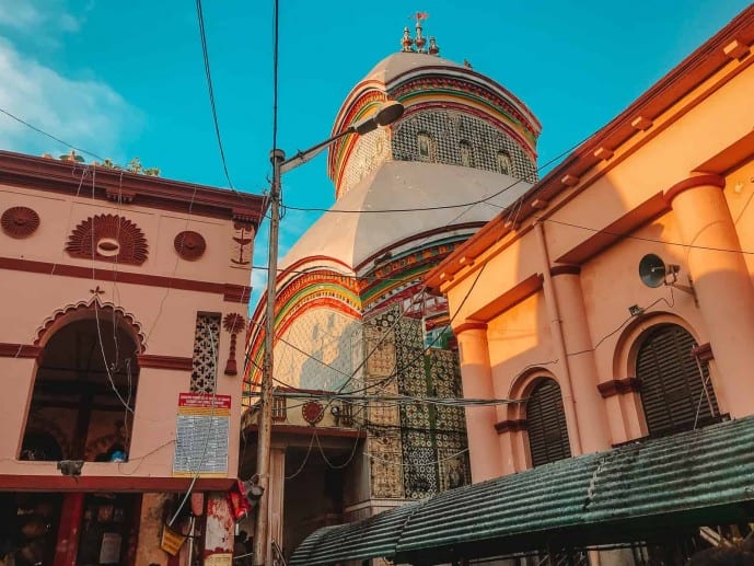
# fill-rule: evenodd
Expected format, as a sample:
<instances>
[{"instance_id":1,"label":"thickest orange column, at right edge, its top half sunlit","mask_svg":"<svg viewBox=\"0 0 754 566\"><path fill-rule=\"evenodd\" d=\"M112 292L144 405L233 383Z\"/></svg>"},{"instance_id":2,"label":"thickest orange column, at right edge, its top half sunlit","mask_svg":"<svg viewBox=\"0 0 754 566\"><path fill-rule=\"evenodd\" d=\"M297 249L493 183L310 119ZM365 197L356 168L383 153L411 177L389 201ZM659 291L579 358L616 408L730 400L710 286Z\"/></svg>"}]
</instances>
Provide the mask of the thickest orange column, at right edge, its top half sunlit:
<instances>
[{"instance_id":1,"label":"thickest orange column, at right edge, its top half sunlit","mask_svg":"<svg viewBox=\"0 0 754 566\"><path fill-rule=\"evenodd\" d=\"M668 189L665 199L689 246L688 269L719 372L716 393L735 418L754 413L754 288L724 184L718 175L693 176Z\"/></svg>"}]
</instances>

